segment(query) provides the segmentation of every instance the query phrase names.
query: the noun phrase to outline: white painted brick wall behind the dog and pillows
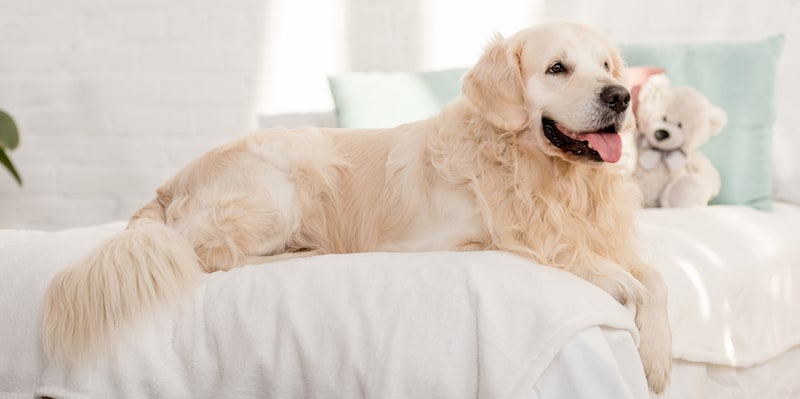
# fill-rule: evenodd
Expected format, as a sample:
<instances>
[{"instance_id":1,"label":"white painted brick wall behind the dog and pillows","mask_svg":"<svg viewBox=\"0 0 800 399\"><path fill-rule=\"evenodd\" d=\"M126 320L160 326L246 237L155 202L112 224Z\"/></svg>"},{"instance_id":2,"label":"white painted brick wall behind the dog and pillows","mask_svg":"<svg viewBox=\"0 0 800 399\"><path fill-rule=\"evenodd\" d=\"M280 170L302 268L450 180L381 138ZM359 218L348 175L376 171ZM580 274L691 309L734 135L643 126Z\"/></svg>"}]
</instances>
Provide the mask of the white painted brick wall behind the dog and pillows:
<instances>
[{"instance_id":1,"label":"white painted brick wall behind the dog and pillows","mask_svg":"<svg viewBox=\"0 0 800 399\"><path fill-rule=\"evenodd\" d=\"M785 32L778 124L800 126L797 0L0 0L0 108L25 182L0 171L0 227L127 219L259 113L329 110L328 74L469 65L492 32L550 18L623 41Z\"/></svg>"}]
</instances>

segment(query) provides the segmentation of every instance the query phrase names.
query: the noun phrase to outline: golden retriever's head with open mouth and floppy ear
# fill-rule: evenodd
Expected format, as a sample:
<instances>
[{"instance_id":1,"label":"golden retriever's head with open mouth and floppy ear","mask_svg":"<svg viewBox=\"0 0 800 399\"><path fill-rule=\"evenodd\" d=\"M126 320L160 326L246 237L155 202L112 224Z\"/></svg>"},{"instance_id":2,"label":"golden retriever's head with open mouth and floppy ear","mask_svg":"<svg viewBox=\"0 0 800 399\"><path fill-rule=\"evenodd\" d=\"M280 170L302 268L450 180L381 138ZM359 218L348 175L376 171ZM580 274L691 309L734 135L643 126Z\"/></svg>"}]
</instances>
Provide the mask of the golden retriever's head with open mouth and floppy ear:
<instances>
[{"instance_id":1,"label":"golden retriever's head with open mouth and floppy ear","mask_svg":"<svg viewBox=\"0 0 800 399\"><path fill-rule=\"evenodd\" d=\"M463 92L520 148L569 162L616 162L633 127L623 65L610 40L557 22L496 37L465 76Z\"/></svg>"}]
</instances>

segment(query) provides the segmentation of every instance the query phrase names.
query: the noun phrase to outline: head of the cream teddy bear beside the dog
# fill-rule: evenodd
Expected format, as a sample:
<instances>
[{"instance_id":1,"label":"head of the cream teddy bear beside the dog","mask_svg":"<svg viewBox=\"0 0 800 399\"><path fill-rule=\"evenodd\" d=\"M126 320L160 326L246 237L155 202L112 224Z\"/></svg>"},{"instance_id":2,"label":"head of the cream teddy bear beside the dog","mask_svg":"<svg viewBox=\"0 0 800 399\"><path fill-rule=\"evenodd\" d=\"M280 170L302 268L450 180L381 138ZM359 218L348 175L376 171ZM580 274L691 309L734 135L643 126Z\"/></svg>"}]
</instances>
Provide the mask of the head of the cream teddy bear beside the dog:
<instances>
[{"instance_id":1,"label":"head of the cream teddy bear beside the dog","mask_svg":"<svg viewBox=\"0 0 800 399\"><path fill-rule=\"evenodd\" d=\"M727 124L725 111L691 87L653 75L639 92L636 120L642 145L661 151L697 149Z\"/></svg>"}]
</instances>

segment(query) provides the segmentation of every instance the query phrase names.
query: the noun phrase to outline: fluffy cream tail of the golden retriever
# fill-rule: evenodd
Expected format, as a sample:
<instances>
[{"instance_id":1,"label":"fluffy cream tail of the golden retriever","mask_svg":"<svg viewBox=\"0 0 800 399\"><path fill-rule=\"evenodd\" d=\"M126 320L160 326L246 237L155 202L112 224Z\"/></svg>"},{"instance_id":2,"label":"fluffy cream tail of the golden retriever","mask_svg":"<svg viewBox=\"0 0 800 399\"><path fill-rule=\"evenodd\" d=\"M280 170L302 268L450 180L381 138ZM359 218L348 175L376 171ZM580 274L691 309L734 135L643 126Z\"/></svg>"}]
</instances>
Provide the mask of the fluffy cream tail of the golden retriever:
<instances>
[{"instance_id":1,"label":"fluffy cream tail of the golden retriever","mask_svg":"<svg viewBox=\"0 0 800 399\"><path fill-rule=\"evenodd\" d=\"M97 359L121 331L186 293L201 275L186 238L161 221L135 220L50 282L42 313L45 353L62 363Z\"/></svg>"}]
</instances>

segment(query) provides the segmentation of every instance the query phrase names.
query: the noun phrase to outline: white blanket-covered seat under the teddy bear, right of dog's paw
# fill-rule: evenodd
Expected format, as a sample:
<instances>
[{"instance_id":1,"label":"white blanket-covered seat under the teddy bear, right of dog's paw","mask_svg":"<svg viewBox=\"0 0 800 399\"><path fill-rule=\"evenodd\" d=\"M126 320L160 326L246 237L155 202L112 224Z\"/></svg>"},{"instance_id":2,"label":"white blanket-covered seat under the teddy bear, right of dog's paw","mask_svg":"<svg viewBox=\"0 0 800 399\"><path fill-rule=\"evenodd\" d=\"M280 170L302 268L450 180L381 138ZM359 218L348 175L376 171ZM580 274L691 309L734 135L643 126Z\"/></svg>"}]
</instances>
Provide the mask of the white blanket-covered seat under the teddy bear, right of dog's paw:
<instances>
[{"instance_id":1,"label":"white blanket-covered seat under the teddy bear, right of dog's paw","mask_svg":"<svg viewBox=\"0 0 800 399\"><path fill-rule=\"evenodd\" d=\"M800 206L646 209L646 261L669 287L673 355L750 367L800 345Z\"/></svg>"}]
</instances>

